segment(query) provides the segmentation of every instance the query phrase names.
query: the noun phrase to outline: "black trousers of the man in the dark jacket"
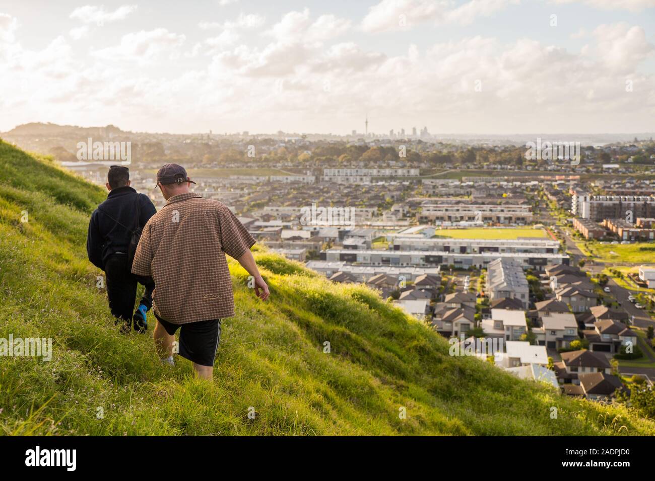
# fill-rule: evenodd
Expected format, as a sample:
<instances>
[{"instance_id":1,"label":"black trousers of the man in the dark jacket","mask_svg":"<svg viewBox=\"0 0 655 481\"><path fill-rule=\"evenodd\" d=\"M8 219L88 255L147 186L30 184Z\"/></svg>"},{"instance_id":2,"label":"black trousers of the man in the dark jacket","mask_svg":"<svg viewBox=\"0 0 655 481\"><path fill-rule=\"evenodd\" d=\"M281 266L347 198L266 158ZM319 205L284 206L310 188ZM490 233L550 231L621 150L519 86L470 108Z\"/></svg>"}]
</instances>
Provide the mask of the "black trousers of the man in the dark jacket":
<instances>
[{"instance_id":1,"label":"black trousers of the man in the dark jacket","mask_svg":"<svg viewBox=\"0 0 655 481\"><path fill-rule=\"evenodd\" d=\"M153 306L153 291L155 283L152 279L134 276L127 268L126 254L112 254L105 261L105 276L107 276L107 296L109 310L119 320L132 323L134 301L136 300L136 285L145 286L141 304L150 309Z\"/></svg>"}]
</instances>

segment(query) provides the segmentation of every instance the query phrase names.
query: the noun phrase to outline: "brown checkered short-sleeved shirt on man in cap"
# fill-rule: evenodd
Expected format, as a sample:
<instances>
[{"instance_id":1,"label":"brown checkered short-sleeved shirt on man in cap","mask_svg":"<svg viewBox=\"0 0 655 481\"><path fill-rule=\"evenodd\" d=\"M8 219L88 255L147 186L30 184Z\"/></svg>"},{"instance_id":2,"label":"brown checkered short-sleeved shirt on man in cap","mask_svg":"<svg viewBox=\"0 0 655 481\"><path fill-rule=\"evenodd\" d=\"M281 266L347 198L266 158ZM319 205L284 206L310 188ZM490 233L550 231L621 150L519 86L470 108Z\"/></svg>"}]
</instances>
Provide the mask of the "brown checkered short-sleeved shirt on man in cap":
<instances>
[{"instance_id":1,"label":"brown checkered short-sleeved shirt on man in cap","mask_svg":"<svg viewBox=\"0 0 655 481\"><path fill-rule=\"evenodd\" d=\"M153 278L153 309L164 321L230 317L234 294L225 254L239 258L254 243L225 204L179 194L145 224L132 273Z\"/></svg>"}]
</instances>

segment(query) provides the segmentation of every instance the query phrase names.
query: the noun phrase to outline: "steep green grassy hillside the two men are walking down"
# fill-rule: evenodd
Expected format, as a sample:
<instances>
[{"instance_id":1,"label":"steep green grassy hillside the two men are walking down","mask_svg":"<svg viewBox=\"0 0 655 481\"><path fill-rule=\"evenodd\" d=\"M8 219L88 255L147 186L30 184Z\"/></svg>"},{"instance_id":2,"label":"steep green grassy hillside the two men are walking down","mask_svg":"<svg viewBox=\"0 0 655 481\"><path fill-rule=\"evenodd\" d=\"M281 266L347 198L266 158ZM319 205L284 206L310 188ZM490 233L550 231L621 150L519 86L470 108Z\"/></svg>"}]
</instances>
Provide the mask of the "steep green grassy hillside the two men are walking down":
<instances>
[{"instance_id":1,"label":"steep green grassy hillside the two men are walking down","mask_svg":"<svg viewBox=\"0 0 655 481\"><path fill-rule=\"evenodd\" d=\"M621 406L567 399L477 359L451 357L444 339L373 291L329 283L263 251L256 257L271 302L255 298L233 262L237 310L223 323L214 381L194 380L181 358L165 368L149 336L117 332L96 288L100 273L86 260L88 215L104 197L48 160L0 143L0 337L54 343L50 362L0 359L0 432L655 434L654 423Z\"/></svg>"}]
</instances>

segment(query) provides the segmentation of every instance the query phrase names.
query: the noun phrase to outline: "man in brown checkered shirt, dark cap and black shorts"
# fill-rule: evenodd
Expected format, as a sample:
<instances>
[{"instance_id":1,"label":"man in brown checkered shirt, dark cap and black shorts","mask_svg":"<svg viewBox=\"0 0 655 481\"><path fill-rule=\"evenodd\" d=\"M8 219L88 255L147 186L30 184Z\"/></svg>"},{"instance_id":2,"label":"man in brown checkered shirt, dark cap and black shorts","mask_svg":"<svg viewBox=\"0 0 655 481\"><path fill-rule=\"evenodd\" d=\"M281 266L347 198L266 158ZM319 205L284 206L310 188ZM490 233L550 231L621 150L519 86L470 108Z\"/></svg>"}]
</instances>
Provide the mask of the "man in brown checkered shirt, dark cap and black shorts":
<instances>
[{"instance_id":1,"label":"man in brown checkered shirt, dark cap and black shorts","mask_svg":"<svg viewBox=\"0 0 655 481\"><path fill-rule=\"evenodd\" d=\"M166 205L145 224L132 273L155 281L155 345L162 362L179 355L193 362L198 377L211 379L221 336L221 319L234 315L232 280L225 254L238 260L254 278L255 294L266 300L269 287L259 274L248 230L224 204L189 191L187 171L166 164L157 185Z\"/></svg>"}]
</instances>

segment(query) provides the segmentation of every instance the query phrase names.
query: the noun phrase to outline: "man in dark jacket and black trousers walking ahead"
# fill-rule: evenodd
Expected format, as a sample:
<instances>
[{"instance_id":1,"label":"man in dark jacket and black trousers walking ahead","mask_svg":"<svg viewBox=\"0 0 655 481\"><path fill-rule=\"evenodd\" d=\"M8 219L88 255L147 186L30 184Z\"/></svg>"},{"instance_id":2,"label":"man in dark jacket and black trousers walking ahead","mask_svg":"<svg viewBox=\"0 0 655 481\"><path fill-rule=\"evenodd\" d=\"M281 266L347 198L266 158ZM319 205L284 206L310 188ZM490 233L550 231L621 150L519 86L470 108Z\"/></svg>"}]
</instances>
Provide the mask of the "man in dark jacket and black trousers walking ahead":
<instances>
[{"instance_id":1,"label":"man in dark jacket and black trousers walking ahead","mask_svg":"<svg viewBox=\"0 0 655 481\"><path fill-rule=\"evenodd\" d=\"M150 199L130 187L130 171L124 166L111 166L105 184L109 195L91 215L86 238L88 260L105 271L109 310L121 328L129 331L134 320L134 330L147 330L146 312L152 306L155 284L152 279L137 277L128 266L128 245L132 232L143 229L157 209ZM136 311L137 281L145 285L145 293ZM134 313L134 314L133 314Z\"/></svg>"}]
</instances>

